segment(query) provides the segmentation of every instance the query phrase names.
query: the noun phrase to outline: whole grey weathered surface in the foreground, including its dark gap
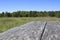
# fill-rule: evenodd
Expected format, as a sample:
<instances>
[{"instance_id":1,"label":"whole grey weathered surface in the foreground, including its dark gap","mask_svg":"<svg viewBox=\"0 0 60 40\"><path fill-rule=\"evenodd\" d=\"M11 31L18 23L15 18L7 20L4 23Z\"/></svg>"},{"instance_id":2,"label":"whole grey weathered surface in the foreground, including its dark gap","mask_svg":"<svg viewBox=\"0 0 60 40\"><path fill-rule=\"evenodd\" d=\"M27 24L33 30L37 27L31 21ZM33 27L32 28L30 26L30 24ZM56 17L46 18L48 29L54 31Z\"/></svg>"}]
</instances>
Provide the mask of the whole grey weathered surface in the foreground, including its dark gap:
<instances>
[{"instance_id":1,"label":"whole grey weathered surface in the foreground, including its dark gap","mask_svg":"<svg viewBox=\"0 0 60 40\"><path fill-rule=\"evenodd\" d=\"M60 40L60 22L30 22L3 32L0 40Z\"/></svg>"}]
</instances>

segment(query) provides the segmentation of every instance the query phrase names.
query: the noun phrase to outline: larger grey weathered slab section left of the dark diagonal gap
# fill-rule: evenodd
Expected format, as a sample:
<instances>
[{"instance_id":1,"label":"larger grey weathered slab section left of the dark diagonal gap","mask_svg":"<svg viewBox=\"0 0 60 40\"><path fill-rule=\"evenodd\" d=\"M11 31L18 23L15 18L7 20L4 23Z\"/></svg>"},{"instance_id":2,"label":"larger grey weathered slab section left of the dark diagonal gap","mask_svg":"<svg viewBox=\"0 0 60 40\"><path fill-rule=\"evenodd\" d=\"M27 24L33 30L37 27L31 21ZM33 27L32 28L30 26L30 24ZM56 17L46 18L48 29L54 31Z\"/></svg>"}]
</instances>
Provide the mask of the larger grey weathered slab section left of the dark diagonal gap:
<instances>
[{"instance_id":1,"label":"larger grey weathered slab section left of the dark diagonal gap","mask_svg":"<svg viewBox=\"0 0 60 40\"><path fill-rule=\"evenodd\" d=\"M39 40L46 22L30 22L2 34L0 40Z\"/></svg>"}]
</instances>

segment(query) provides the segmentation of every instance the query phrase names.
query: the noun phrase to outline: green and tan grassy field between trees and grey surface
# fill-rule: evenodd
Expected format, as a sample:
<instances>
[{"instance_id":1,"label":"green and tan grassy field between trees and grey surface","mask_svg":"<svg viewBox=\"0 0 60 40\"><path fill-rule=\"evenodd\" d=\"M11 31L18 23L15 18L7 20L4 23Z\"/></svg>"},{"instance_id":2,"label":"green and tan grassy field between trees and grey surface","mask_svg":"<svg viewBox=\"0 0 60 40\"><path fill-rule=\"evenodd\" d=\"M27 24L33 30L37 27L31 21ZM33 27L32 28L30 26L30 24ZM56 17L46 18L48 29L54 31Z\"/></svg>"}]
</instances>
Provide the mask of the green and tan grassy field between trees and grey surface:
<instances>
[{"instance_id":1,"label":"green and tan grassy field between trees and grey surface","mask_svg":"<svg viewBox=\"0 0 60 40\"><path fill-rule=\"evenodd\" d=\"M20 26L31 21L60 21L56 17L2 17L0 18L0 33L10 28Z\"/></svg>"}]
</instances>

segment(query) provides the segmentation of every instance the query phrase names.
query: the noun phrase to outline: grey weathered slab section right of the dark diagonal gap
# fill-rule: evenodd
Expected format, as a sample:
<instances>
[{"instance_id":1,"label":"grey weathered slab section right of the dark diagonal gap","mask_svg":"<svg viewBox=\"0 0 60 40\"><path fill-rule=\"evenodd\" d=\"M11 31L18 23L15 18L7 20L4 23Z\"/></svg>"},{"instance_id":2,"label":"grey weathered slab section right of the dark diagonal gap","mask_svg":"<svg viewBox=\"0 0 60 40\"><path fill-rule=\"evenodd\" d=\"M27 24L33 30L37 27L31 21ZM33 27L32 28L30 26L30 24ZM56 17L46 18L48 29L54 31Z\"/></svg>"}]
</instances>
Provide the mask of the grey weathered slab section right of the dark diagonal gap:
<instances>
[{"instance_id":1,"label":"grey weathered slab section right of the dark diagonal gap","mask_svg":"<svg viewBox=\"0 0 60 40\"><path fill-rule=\"evenodd\" d=\"M41 40L60 40L60 22L48 22Z\"/></svg>"}]
</instances>

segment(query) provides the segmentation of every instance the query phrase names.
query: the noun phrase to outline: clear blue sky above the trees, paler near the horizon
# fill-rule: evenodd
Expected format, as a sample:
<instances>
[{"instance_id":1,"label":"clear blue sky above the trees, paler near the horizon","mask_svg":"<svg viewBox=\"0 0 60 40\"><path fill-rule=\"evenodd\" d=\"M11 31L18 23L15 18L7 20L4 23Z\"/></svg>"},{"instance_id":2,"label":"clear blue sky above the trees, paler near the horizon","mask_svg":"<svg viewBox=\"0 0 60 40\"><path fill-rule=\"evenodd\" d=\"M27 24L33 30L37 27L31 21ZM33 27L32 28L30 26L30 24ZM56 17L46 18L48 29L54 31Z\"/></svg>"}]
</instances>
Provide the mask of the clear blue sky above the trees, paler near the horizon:
<instances>
[{"instance_id":1,"label":"clear blue sky above the trees, paler near the horizon","mask_svg":"<svg viewBox=\"0 0 60 40\"><path fill-rule=\"evenodd\" d=\"M0 0L0 12L59 11L60 0Z\"/></svg>"}]
</instances>

